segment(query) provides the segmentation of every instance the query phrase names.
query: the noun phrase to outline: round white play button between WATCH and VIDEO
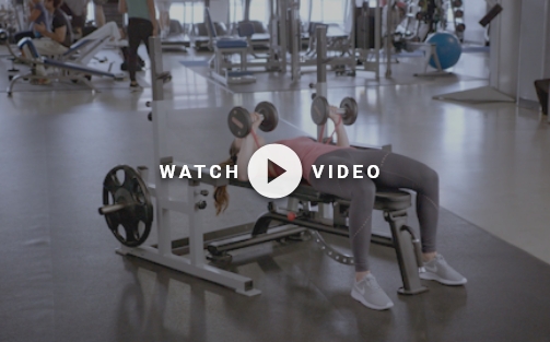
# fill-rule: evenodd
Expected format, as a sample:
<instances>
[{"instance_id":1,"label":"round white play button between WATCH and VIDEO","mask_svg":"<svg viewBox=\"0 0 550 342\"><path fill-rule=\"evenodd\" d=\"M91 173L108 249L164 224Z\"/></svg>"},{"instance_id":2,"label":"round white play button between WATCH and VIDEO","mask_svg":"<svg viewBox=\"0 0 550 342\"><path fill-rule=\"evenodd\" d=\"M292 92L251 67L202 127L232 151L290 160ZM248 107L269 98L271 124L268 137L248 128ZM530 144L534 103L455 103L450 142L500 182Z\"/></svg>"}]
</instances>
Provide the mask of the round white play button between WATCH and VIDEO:
<instances>
[{"instance_id":1,"label":"round white play button between WATCH and VIDEO","mask_svg":"<svg viewBox=\"0 0 550 342\"><path fill-rule=\"evenodd\" d=\"M269 178L269 163L278 176ZM278 199L292 193L302 180L302 163L285 145L268 144L256 151L248 162L248 179L261 196Z\"/></svg>"}]
</instances>

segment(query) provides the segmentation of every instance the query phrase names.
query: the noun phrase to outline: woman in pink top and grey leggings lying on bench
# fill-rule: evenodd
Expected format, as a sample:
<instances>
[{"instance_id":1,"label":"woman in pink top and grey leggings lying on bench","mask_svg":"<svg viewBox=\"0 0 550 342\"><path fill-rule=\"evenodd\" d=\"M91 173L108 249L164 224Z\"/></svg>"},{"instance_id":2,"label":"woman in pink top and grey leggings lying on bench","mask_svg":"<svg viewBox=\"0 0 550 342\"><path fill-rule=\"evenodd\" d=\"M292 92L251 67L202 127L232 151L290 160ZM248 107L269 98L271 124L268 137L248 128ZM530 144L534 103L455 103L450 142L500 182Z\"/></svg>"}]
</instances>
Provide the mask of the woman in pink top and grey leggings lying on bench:
<instances>
[{"instance_id":1,"label":"woman in pink top and grey leggings lying on bench","mask_svg":"<svg viewBox=\"0 0 550 342\"><path fill-rule=\"evenodd\" d=\"M257 134L261 123L261 116L251 114L253 129L250 134L243 139L235 139L230 149L230 160L222 163L237 165L239 180L248 180L248 162L265 140ZM351 296L368 308L384 310L394 303L379 287L376 279L370 272L368 247L371 245L372 209L374 208L376 188L406 188L417 192L417 214L420 223L424 270L421 279L434 280L445 285L463 285L466 279L445 262L436 252L435 236L437 232L437 217L440 209L438 178L435 170L409 157L382 150L359 150L350 148L348 135L341 122L341 117L331 107L330 119L335 122L338 143L329 145L302 137L277 141L293 150L302 162L302 176L317 191L350 200L349 231L351 249L355 264L355 283ZM329 178L328 173L323 173L320 178L313 174L312 165L346 165L352 169L353 165L377 165L379 176L375 179L366 175L361 179ZM282 174L277 166L270 165L271 176ZM223 212L229 205L229 196L225 187L214 191L217 213ZM371 209L371 210L365 210Z\"/></svg>"}]
</instances>

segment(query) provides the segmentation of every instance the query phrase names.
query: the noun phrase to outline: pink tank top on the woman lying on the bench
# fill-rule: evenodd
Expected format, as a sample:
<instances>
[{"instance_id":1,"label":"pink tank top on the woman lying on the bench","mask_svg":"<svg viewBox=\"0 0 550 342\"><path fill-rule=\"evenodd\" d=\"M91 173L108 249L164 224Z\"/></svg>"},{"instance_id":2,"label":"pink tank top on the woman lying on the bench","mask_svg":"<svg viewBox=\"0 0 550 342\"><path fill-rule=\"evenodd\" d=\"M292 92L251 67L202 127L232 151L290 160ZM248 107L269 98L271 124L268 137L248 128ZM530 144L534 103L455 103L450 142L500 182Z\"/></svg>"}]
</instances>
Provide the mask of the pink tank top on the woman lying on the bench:
<instances>
[{"instance_id":1,"label":"pink tank top on the woman lying on the bench","mask_svg":"<svg viewBox=\"0 0 550 342\"><path fill-rule=\"evenodd\" d=\"M309 181L309 174L312 172L312 166L313 164L315 164L315 161L317 161L317 158L320 155L340 149L349 149L349 148L323 144L307 137L280 140L276 141L274 143L285 145L292 151L294 151L294 153L296 153L297 157L302 162L302 177L307 181ZM282 174L282 169L280 167L274 166L273 170L278 175Z\"/></svg>"}]
</instances>

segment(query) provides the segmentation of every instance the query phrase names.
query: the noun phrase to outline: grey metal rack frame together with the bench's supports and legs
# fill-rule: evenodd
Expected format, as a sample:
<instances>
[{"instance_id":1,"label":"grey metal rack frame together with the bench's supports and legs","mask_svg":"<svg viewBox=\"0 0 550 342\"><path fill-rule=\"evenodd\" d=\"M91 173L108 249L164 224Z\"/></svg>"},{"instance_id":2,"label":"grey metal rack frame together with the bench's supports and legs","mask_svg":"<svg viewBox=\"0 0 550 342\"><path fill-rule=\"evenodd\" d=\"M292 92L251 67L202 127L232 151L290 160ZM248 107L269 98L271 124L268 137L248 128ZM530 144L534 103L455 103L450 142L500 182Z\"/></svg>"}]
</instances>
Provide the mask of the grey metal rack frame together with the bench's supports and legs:
<instances>
[{"instance_id":1,"label":"grey metal rack frame together with the bench's supports and legs","mask_svg":"<svg viewBox=\"0 0 550 342\"><path fill-rule=\"evenodd\" d=\"M259 290L254 288L254 282L251 279L224 271L212 267L207 263L207 256L204 252L206 240L209 239L207 234L203 232L202 225L202 209L204 208L204 197L208 192L203 192L199 189L200 184L207 184L210 186L224 186L229 185L229 179L224 178L212 178L207 169L197 169L192 165L187 165L185 163L176 162L172 157L167 157L167 135L165 132L168 130L168 113L173 110L169 107L169 103L164 101L163 92L163 78L164 72L162 64L162 47L160 38L151 37L150 47L152 48L151 54L151 74L152 74L152 90L153 90L153 101L150 104L152 107L152 123L153 123L153 141L154 141L154 161L159 165L174 165L176 167L176 173L182 170L183 167L188 167L191 174L191 178L188 180L186 190L186 200L178 200L171 197L168 181L162 179L161 173L154 173L154 185L148 184L149 192L153 198L155 198L155 222L159 236L159 243L154 246L139 246L139 247L127 247L121 245L117 249L120 255L131 255L144 260L149 260L171 269L185 272L187 274L214 282L217 284L233 288L235 292L254 296L260 294ZM148 170L145 167L139 168L142 178L148 180ZM289 209L295 209L297 211L300 201L296 198L289 198ZM339 205L349 205L349 203L341 202ZM319 205L320 207L320 205ZM381 208L377 208L381 209ZM309 211L307 207L305 209ZM183 243L174 244L172 237L171 222L169 222L169 211L177 211L188 215L189 220L189 237ZM286 215L278 213L277 208L271 207L268 214L256 221L250 238L237 238L235 237L235 232L242 233L245 229L250 228L250 224L230 227L219 232L214 232L217 235L223 235L224 231L227 231L227 235L233 234L233 239L231 244L236 246L236 248L242 248L259 243L265 243L268 240L273 240L277 238L301 234L304 232L304 227L313 228L316 231L335 233L337 229L335 225L339 222L346 222L344 211L338 210L335 214L330 213L332 216L332 225L324 224L323 220L328 215L327 212L319 210L315 213L314 217L318 217L316 221L304 221L290 222ZM318 215L318 216L317 216ZM420 284L420 279L418 274L418 262L419 253L418 248L414 247L414 240L411 244L410 236L412 232L405 225L407 220L407 211L391 211L385 210L386 220L390 223L393 232L393 244L397 251L398 262L401 270L401 275L403 279L403 287L399 290L402 294L417 294L426 291L424 286ZM277 220L282 223L290 224L290 227L282 227L270 233L274 235L270 236L256 236L254 232L258 229L267 231L271 220ZM265 226L262 226L266 224ZM303 227L295 227L295 225L302 225ZM212 235L212 233L210 233ZM344 235L344 233L340 233ZM325 246L327 249L327 255L335 258L340 262L351 263L353 259L349 257L343 257L340 260L340 255L333 255L332 249L327 244L324 244L323 237L316 235L316 241ZM256 240L254 240L256 238ZM382 240L388 241L386 238L381 238ZM418 240L417 240L418 243ZM418 245L418 244L417 244ZM235 249L235 248L234 248ZM175 252L177 250L177 253ZM417 258L414 258L414 252L417 252Z\"/></svg>"}]
</instances>

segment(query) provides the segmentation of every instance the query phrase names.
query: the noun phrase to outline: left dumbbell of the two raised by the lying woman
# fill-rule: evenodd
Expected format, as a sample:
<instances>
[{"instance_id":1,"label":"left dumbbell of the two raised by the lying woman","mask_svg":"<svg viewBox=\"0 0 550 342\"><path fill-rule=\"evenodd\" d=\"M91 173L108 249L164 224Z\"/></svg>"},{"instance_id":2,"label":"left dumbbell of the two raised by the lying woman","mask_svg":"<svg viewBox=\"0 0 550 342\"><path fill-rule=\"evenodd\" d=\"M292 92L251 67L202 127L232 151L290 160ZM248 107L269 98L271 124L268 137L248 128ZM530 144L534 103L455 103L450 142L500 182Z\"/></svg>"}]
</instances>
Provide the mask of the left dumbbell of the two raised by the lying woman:
<instances>
[{"instance_id":1,"label":"left dumbbell of the two raised by the lying woman","mask_svg":"<svg viewBox=\"0 0 550 342\"><path fill-rule=\"evenodd\" d=\"M260 123L260 130L264 132L270 132L276 129L279 123L279 114L277 113L276 106L269 102L260 102L254 111L258 113L264 117ZM250 133L253 127L253 119L250 113L243 107L233 107L227 116L227 125L231 132L236 138L245 138Z\"/></svg>"}]
</instances>

